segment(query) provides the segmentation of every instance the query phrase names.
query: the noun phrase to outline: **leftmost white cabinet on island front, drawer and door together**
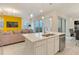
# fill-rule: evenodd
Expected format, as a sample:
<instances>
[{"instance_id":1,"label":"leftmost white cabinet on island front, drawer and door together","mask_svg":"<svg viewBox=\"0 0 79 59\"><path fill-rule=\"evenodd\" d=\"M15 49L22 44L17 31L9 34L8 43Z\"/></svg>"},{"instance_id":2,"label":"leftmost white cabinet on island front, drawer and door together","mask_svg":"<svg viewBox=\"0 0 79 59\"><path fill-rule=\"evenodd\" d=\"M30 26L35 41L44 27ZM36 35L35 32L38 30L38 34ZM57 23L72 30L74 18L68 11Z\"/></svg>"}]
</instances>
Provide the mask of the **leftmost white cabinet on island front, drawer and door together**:
<instances>
[{"instance_id":1,"label":"leftmost white cabinet on island front, drawer and door together","mask_svg":"<svg viewBox=\"0 0 79 59\"><path fill-rule=\"evenodd\" d=\"M36 47L34 47L34 53L36 55L46 55L47 54L46 40L37 42Z\"/></svg>"}]
</instances>

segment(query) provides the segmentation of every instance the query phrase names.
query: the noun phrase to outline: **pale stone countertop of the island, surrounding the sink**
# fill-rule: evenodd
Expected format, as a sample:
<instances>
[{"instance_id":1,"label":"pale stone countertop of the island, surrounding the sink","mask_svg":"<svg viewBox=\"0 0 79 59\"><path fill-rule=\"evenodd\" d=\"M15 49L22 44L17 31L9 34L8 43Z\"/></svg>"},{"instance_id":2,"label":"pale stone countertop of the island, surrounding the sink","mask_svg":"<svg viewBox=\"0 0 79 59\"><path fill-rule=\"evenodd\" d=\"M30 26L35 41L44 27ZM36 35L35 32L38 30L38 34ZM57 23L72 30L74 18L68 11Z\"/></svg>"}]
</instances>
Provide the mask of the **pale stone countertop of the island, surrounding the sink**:
<instances>
[{"instance_id":1,"label":"pale stone countertop of the island, surrounding the sink","mask_svg":"<svg viewBox=\"0 0 79 59\"><path fill-rule=\"evenodd\" d=\"M29 34L22 34L26 39L30 40L31 42L36 42L36 41L41 41L44 39L48 39L51 37L55 37L58 35L62 35L64 33L59 33L59 32L50 32L50 33L45 33L45 34L55 34L53 36L45 37L42 36L44 33L29 33Z\"/></svg>"}]
</instances>

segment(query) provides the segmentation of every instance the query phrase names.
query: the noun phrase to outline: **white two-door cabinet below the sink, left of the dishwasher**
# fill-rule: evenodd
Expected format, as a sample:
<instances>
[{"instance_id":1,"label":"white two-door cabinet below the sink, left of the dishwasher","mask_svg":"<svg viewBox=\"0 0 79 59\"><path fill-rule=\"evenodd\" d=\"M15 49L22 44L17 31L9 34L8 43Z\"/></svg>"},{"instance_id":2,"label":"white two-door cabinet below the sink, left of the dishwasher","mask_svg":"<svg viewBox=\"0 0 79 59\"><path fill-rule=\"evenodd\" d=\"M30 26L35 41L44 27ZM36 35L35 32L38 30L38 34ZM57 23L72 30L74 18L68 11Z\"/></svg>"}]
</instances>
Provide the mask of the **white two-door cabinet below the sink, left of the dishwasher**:
<instances>
[{"instance_id":1,"label":"white two-door cabinet below the sink, left of the dishwasher","mask_svg":"<svg viewBox=\"0 0 79 59\"><path fill-rule=\"evenodd\" d=\"M48 54L56 54L59 51L59 37L51 37L47 40Z\"/></svg>"}]
</instances>

